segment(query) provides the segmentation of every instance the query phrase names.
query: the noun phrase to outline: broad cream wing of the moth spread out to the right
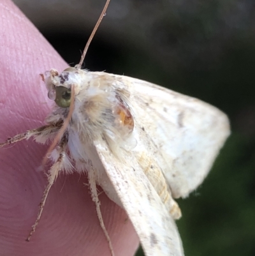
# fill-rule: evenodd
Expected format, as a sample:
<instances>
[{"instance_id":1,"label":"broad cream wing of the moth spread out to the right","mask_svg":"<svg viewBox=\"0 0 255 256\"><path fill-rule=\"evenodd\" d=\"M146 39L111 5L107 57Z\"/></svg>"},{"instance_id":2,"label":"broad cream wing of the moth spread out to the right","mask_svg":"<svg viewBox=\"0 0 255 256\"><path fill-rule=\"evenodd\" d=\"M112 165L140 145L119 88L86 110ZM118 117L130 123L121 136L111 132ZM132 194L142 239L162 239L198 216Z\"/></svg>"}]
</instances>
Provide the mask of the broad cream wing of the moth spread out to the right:
<instances>
[{"instance_id":1,"label":"broad cream wing of the moth spread out to the right","mask_svg":"<svg viewBox=\"0 0 255 256\"><path fill-rule=\"evenodd\" d=\"M128 86L135 124L156 146L154 156L173 197L186 197L205 179L230 135L228 117L196 98L143 80L112 76Z\"/></svg>"}]
</instances>

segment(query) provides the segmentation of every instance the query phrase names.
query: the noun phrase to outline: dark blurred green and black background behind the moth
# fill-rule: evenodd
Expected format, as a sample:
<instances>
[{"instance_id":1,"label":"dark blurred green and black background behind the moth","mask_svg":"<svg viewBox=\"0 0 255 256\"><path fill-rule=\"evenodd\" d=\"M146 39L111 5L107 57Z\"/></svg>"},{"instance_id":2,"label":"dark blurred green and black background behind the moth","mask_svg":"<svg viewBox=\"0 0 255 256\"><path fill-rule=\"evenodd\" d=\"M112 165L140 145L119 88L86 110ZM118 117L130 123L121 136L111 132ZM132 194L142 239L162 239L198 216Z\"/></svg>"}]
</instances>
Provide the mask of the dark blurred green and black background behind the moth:
<instances>
[{"instance_id":1,"label":"dark blurred green and black background behind the moth","mask_svg":"<svg viewBox=\"0 0 255 256\"><path fill-rule=\"evenodd\" d=\"M105 4L14 2L71 66ZM112 0L85 58L91 71L148 80L230 117L232 135L209 176L178 200L186 256L255 255L254 13L254 0Z\"/></svg>"}]
</instances>

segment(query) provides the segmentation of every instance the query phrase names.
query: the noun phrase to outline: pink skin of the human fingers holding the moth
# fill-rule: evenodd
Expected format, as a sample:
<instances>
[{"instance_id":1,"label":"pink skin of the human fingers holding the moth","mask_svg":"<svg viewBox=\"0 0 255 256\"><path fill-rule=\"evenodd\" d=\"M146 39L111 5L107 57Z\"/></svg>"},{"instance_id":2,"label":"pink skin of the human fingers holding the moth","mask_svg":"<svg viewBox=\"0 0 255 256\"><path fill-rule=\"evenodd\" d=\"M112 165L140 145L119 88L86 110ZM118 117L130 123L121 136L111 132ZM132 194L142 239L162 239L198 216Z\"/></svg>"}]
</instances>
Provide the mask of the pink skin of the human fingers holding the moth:
<instances>
[{"instance_id":1,"label":"pink skin of the human fingers holding the moth","mask_svg":"<svg viewBox=\"0 0 255 256\"><path fill-rule=\"evenodd\" d=\"M68 65L11 1L0 3L0 24L3 142L43 124L52 102L39 74L50 68L61 71ZM47 183L45 174L38 171L47 147L28 140L0 149L1 254L110 255L85 175L58 177L36 232L31 241L25 241ZM128 216L105 193L99 199L115 255L133 255L138 237Z\"/></svg>"}]
</instances>

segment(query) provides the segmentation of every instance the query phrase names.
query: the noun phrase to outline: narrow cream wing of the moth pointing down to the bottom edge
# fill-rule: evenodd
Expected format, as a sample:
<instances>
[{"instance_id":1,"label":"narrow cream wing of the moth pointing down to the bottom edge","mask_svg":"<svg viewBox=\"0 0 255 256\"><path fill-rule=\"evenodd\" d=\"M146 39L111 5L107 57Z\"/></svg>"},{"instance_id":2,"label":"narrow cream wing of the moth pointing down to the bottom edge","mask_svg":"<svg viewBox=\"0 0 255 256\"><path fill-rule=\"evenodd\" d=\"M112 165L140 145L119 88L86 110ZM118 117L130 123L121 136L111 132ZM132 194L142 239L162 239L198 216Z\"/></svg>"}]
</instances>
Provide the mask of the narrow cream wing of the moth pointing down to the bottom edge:
<instances>
[{"instance_id":1,"label":"narrow cream wing of the moth pointing down to the bottom edge","mask_svg":"<svg viewBox=\"0 0 255 256\"><path fill-rule=\"evenodd\" d=\"M183 248L179 232L157 195L152 184L132 154L126 156L126 163L116 161L104 140L96 143L96 150L106 175L110 179L122 206L135 227L147 256L182 256ZM94 158L94 157L93 157ZM98 165L98 161L95 161ZM100 166L96 166L101 169ZM99 184L108 190L109 183L101 176Z\"/></svg>"}]
</instances>

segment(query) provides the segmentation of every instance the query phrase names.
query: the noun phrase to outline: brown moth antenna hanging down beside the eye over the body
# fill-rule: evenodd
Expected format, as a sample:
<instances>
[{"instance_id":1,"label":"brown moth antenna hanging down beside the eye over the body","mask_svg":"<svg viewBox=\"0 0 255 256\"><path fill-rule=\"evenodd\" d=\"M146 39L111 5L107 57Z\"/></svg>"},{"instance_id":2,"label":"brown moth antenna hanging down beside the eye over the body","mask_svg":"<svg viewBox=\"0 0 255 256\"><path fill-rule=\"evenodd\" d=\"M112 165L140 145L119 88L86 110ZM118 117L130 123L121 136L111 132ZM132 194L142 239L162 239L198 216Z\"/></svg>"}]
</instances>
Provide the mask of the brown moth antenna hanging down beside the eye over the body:
<instances>
[{"instance_id":1,"label":"brown moth antenna hanging down beside the eye over the body","mask_svg":"<svg viewBox=\"0 0 255 256\"><path fill-rule=\"evenodd\" d=\"M73 114L73 110L75 109L75 87L71 86L71 103L68 111L68 116L64 120L64 123L62 124L62 127L60 128L59 132L55 136L52 144L47 150L47 153L43 157L43 162L41 163L41 167L44 167L48 160L48 154L52 152L52 150L55 148L55 146L59 143L59 140L61 139L64 132L66 132L66 128L68 127L69 121L71 120L71 115Z\"/></svg>"}]
</instances>

